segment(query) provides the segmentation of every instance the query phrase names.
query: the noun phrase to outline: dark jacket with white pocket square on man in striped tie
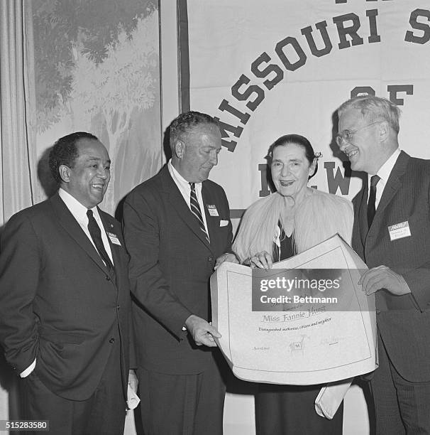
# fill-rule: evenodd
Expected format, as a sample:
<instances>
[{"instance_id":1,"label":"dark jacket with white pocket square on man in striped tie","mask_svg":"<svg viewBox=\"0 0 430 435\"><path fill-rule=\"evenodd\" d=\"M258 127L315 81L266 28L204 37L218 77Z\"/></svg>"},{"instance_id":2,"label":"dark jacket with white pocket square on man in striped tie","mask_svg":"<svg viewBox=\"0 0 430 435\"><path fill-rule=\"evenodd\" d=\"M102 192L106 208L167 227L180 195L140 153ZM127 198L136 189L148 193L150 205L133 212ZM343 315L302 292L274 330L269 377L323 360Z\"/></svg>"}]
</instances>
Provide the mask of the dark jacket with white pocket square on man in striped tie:
<instances>
[{"instance_id":1,"label":"dark jacket with white pocket square on man in striped tie","mask_svg":"<svg viewBox=\"0 0 430 435\"><path fill-rule=\"evenodd\" d=\"M133 304L137 361L147 370L193 374L211 358L212 350L195 346L182 326L191 314L210 320L209 276L216 257L230 251L232 230L221 186L204 181L202 197L210 245L167 165L124 203L131 291L139 303ZM209 215L207 205L219 215ZM221 220L227 225L220 226Z\"/></svg>"}]
</instances>

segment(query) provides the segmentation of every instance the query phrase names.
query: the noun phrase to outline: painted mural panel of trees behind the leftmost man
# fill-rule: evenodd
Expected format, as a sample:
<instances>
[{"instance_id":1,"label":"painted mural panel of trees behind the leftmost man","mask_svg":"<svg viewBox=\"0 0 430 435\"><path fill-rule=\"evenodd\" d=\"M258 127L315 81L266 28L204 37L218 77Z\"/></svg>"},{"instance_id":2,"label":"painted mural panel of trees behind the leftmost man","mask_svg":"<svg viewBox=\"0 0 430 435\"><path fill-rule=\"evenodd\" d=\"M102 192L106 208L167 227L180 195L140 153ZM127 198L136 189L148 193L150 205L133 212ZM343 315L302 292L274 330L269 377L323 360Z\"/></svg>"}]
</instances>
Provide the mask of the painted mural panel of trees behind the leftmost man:
<instances>
[{"instance_id":1,"label":"painted mural panel of trees behind the leftmost man","mask_svg":"<svg viewBox=\"0 0 430 435\"><path fill-rule=\"evenodd\" d=\"M114 163L104 200L113 212L160 168L158 3L35 0L33 9L40 134L67 120L99 136Z\"/></svg>"}]
</instances>

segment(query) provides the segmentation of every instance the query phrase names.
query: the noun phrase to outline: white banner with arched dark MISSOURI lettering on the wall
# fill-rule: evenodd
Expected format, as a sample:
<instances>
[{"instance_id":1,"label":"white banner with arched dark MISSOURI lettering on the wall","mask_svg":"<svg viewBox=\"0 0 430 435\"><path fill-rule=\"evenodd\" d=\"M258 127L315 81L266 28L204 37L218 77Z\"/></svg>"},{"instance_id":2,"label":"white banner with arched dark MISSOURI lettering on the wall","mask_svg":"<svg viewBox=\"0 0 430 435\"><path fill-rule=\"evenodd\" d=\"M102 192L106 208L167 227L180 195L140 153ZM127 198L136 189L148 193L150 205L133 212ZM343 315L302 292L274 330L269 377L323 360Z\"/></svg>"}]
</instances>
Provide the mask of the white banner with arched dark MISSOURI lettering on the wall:
<instances>
[{"instance_id":1,"label":"white banner with arched dark MISSOURI lettering on the wall","mask_svg":"<svg viewBox=\"0 0 430 435\"><path fill-rule=\"evenodd\" d=\"M401 149L430 158L428 0L187 3L190 107L224 129L211 179L232 209L270 194L265 155L290 133L323 154L309 184L352 199L361 178L338 151L334 114L360 93L398 104Z\"/></svg>"}]
</instances>

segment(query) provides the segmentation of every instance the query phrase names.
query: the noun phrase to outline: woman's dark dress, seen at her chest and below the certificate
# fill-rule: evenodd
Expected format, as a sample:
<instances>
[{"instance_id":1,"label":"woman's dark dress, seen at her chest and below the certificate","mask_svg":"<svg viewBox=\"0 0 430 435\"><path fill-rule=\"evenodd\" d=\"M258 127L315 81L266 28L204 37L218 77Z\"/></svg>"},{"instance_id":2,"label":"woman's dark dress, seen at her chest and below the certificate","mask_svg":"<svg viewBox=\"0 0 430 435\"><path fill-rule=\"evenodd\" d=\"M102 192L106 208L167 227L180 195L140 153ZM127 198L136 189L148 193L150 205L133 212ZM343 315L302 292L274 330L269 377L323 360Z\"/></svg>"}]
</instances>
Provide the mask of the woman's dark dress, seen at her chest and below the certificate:
<instances>
[{"instance_id":1,"label":"woman's dark dress, seen at her chest and below the certificate","mask_svg":"<svg viewBox=\"0 0 430 435\"><path fill-rule=\"evenodd\" d=\"M275 247L274 261L294 255L292 237L281 230L280 249ZM279 254L280 251L280 254ZM258 385L255 394L257 435L341 435L343 402L332 420L319 417L315 399L324 385Z\"/></svg>"}]
</instances>

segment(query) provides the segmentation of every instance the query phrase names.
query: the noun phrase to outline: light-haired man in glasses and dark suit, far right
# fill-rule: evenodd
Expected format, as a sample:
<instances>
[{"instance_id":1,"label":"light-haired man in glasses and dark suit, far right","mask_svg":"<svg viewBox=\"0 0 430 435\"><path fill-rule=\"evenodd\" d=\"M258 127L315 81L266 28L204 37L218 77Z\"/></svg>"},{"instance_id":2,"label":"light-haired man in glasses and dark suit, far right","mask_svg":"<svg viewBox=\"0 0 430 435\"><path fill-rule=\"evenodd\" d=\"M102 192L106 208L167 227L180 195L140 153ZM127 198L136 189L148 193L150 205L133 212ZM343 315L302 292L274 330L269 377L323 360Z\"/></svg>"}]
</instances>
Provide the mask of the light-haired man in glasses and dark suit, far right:
<instances>
[{"instance_id":1,"label":"light-haired man in glasses and dark suit, far right","mask_svg":"<svg viewBox=\"0 0 430 435\"><path fill-rule=\"evenodd\" d=\"M338 109L338 146L368 180L354 198L353 248L375 293L377 434L430 433L430 161L399 150L399 109L363 96Z\"/></svg>"}]
</instances>

